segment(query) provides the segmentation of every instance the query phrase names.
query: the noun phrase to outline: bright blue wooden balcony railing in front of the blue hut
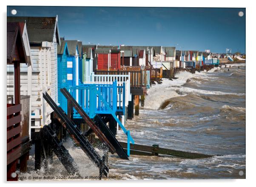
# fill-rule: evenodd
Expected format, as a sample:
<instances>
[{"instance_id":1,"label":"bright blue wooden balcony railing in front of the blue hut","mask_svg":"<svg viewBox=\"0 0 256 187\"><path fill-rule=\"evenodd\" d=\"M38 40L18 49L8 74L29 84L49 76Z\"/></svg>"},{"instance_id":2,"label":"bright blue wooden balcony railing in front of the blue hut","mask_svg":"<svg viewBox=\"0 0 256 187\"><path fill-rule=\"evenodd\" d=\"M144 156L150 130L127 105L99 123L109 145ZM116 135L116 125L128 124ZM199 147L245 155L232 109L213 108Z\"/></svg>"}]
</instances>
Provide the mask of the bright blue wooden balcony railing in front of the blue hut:
<instances>
[{"instance_id":1,"label":"bright blue wooden balcony railing in front of the blue hut","mask_svg":"<svg viewBox=\"0 0 256 187\"><path fill-rule=\"evenodd\" d=\"M125 102L122 102L125 100L125 92L122 93L125 91L125 84L118 86L117 81L111 85L80 84L79 86L68 86L67 90L90 118L93 118L96 114L111 114L108 107L115 113L122 112L125 115ZM97 96L96 90L100 93L108 107ZM74 118L81 118L81 116L74 111Z\"/></svg>"}]
</instances>

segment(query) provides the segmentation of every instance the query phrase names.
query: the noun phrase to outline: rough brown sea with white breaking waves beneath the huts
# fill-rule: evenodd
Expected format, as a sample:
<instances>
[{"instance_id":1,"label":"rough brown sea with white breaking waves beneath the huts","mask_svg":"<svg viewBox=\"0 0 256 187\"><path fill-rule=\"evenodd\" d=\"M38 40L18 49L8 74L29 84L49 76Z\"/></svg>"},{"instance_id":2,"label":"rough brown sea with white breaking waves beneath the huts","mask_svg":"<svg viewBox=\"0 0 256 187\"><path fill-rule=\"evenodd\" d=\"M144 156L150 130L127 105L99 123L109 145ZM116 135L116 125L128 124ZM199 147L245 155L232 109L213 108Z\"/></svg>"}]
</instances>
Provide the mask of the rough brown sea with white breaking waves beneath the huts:
<instances>
[{"instance_id":1,"label":"rough brown sea with white breaking waves beneath the huts","mask_svg":"<svg viewBox=\"0 0 256 187\"><path fill-rule=\"evenodd\" d=\"M177 79L163 79L147 91L139 116L125 124L135 144L159 144L213 157L131 155L123 160L109 153L105 180L245 178L245 68L245 63L228 64L227 68L222 65L196 74L182 71L175 75ZM117 139L126 141L122 130ZM18 173L19 180L98 180L99 169L80 147L71 139L64 146L83 178L70 178L57 156L47 168L34 171L33 148L28 172ZM97 151L103 155L100 148Z\"/></svg>"}]
</instances>

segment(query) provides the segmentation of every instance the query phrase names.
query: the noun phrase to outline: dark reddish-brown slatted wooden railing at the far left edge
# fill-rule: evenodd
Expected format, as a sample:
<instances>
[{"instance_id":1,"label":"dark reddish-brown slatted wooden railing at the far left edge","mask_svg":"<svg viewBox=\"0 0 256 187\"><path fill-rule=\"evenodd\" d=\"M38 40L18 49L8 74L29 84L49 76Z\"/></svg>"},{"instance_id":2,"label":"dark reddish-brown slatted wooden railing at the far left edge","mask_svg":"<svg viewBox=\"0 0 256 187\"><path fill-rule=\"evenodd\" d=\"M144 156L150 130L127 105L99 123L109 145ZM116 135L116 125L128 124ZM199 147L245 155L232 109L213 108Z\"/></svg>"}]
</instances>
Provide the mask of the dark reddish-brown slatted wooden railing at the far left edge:
<instances>
[{"instance_id":1,"label":"dark reddish-brown slatted wooden railing at the far left edge","mask_svg":"<svg viewBox=\"0 0 256 187\"><path fill-rule=\"evenodd\" d=\"M20 157L21 104L7 104L7 165Z\"/></svg>"}]
</instances>

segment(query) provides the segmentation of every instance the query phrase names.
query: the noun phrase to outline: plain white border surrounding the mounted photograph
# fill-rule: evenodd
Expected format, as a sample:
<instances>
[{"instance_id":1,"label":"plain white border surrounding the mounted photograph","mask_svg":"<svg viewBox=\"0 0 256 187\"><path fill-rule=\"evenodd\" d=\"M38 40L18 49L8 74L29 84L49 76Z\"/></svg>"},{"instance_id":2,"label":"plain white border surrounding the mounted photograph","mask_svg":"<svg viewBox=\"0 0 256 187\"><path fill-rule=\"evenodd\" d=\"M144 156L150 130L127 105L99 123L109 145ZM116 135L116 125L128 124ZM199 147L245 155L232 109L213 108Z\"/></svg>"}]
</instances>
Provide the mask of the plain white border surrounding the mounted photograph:
<instances>
[{"instance_id":1,"label":"plain white border surrounding the mounted photograph","mask_svg":"<svg viewBox=\"0 0 256 187\"><path fill-rule=\"evenodd\" d=\"M1 50L0 54L2 57L1 60L1 85L6 89L6 6L7 5L21 5L21 6L148 6L148 7L163 7L163 6L170 6L170 7L245 7L246 8L246 56L247 56L247 65L246 65L246 180L244 179L237 179L237 180L174 180L174 181L78 181L76 183L82 184L82 185L107 185L107 186L131 186L136 185L136 183L140 183L145 186L157 186L158 183L162 183L162 185L179 185L179 186L196 186L196 187L216 187L216 186L227 186L232 185L232 187L241 187L241 186L247 186L250 184L255 184L253 179L254 171L255 171L255 155L256 155L256 140L255 140L255 119L253 118L253 114L255 113L255 81L256 79L256 59L255 59L255 17L256 17L256 10L253 1L239 1L239 0L230 0L230 1L223 1L223 0L214 0L214 1L205 1L205 0L182 0L182 1L150 1L150 0L129 0L129 1L122 1L122 0L97 0L97 1L71 1L71 0L43 0L43 1L35 1L35 0L8 0L1 1ZM236 28L234 28L236 29ZM2 88L3 90L3 88ZM3 98L3 101L6 101L6 90L1 91L1 98ZM4 103L3 102L3 103ZM6 146L6 105L2 105L1 108L1 119L3 119L1 123L2 127L2 138L1 145ZM6 183L6 147L2 148L2 153L0 154L0 160L2 161L1 164L1 170L0 170L0 176L1 181L3 183ZM49 183L49 182L47 182ZM56 184L56 182L54 182ZM74 183L74 181L62 181L61 182L65 185L70 185L71 183ZM86 183L86 184L84 184ZM33 183L29 182L19 182L19 184L11 183L7 184L8 186L12 185L21 185L21 186L27 186L29 184L34 185ZM4 184L5 185L5 184ZM45 186L46 184L43 184L42 182L40 184L36 185L42 185Z\"/></svg>"}]
</instances>

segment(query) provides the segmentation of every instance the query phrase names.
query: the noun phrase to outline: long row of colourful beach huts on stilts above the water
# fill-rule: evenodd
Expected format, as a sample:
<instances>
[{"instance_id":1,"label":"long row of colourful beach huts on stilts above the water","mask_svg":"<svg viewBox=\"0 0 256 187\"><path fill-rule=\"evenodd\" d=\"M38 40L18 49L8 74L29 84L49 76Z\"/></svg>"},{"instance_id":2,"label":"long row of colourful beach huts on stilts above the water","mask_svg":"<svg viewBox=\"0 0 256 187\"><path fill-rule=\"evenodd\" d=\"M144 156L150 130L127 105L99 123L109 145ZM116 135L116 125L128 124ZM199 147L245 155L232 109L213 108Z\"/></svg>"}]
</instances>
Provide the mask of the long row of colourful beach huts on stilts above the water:
<instances>
[{"instance_id":1,"label":"long row of colourful beach huts on stilts above the water","mask_svg":"<svg viewBox=\"0 0 256 187\"><path fill-rule=\"evenodd\" d=\"M125 128L139 115L152 84L179 71L209 70L218 58L165 46L84 45L60 37L58 17L7 17L7 180L27 171L31 144L35 169L53 152L69 173L77 169L62 145L67 134L108 175L88 140L96 134L122 159L134 140ZM127 136L127 149L115 138ZM66 133L67 132L67 133ZM16 174L15 174L16 173Z\"/></svg>"}]
</instances>

